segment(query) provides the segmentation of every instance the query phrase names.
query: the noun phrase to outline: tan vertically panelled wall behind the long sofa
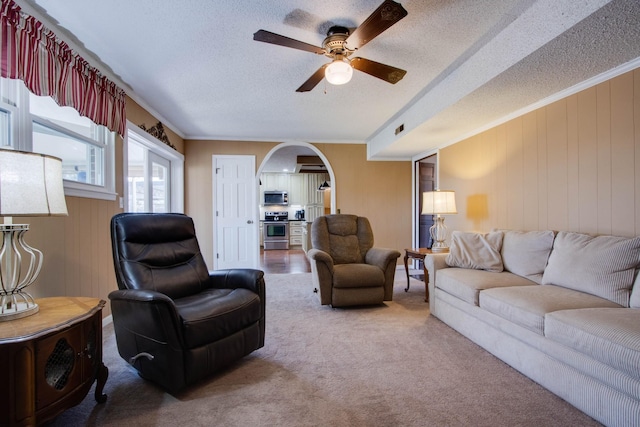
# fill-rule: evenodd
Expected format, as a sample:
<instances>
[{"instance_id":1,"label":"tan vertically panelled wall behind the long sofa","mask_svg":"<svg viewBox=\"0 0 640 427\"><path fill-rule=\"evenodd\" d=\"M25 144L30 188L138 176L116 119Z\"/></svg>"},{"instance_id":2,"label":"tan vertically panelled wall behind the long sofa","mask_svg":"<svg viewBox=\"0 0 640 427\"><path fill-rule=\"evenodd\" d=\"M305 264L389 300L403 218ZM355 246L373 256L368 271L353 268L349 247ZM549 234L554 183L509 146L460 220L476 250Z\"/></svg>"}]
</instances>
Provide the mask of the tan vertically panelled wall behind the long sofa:
<instances>
[{"instance_id":1,"label":"tan vertically panelled wall behind the long sofa","mask_svg":"<svg viewBox=\"0 0 640 427\"><path fill-rule=\"evenodd\" d=\"M640 69L440 152L450 229L640 234Z\"/></svg>"}]
</instances>

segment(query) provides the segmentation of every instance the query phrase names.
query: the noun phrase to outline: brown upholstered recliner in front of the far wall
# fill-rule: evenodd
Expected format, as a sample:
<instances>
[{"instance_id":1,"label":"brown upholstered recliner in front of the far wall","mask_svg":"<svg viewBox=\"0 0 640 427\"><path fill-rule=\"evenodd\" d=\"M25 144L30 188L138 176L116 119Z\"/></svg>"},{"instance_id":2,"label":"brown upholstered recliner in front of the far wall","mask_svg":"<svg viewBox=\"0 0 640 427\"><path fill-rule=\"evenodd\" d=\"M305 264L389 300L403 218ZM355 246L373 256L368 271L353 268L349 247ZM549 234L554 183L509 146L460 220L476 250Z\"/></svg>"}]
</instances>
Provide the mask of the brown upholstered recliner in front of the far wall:
<instances>
[{"instance_id":1,"label":"brown upholstered recliner in front of the far wall","mask_svg":"<svg viewBox=\"0 0 640 427\"><path fill-rule=\"evenodd\" d=\"M325 215L311 225L308 252L320 303L333 307L381 304L393 299L400 252L373 247L369 220L356 215Z\"/></svg>"}]
</instances>

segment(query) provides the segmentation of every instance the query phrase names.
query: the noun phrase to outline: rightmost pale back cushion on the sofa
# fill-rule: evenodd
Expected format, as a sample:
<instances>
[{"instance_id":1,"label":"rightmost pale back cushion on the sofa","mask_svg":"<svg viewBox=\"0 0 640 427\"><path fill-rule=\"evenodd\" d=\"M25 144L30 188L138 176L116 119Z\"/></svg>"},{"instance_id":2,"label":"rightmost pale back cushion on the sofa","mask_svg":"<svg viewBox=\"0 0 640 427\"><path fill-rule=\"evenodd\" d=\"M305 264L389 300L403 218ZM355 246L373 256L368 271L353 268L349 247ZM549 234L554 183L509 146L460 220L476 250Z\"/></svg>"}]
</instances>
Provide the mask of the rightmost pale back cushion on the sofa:
<instances>
[{"instance_id":1,"label":"rightmost pale back cushion on the sofa","mask_svg":"<svg viewBox=\"0 0 640 427\"><path fill-rule=\"evenodd\" d=\"M629 307L640 237L590 236L561 231L555 238L543 285L557 285Z\"/></svg>"}]
</instances>

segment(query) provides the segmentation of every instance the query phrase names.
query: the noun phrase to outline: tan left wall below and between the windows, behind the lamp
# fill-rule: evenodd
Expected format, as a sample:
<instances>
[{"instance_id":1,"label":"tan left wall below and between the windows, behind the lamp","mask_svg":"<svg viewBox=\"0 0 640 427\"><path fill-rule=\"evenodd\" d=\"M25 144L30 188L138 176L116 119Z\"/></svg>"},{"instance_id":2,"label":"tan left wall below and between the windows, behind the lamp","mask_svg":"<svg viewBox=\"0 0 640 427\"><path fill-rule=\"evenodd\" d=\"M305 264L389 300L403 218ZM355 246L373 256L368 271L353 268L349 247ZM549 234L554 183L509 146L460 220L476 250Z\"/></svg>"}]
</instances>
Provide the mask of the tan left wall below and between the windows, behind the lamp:
<instances>
[{"instance_id":1,"label":"tan left wall below and between the windows, behind the lamp","mask_svg":"<svg viewBox=\"0 0 640 427\"><path fill-rule=\"evenodd\" d=\"M127 99L127 119L151 127L157 119L131 99ZM184 142L165 127L169 140L183 149ZM116 138L116 192L123 194L123 143ZM27 290L36 298L50 296L88 296L108 301L108 294L117 289L109 224L111 217L122 209L118 200L97 200L67 197L69 216L57 218L14 218L14 223L27 223L28 244L44 254L42 272ZM109 304L103 315L111 313Z\"/></svg>"}]
</instances>

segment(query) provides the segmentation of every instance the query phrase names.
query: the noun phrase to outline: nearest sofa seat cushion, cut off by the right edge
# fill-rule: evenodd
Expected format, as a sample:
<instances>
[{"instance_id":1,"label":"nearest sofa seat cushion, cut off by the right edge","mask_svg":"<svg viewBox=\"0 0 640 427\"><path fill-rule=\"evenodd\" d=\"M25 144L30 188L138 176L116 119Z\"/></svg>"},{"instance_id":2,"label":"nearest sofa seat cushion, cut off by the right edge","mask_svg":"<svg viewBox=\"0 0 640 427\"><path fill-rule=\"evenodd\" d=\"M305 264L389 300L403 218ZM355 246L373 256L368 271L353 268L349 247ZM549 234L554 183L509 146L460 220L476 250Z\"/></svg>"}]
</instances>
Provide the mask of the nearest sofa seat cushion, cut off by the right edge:
<instances>
[{"instance_id":1,"label":"nearest sofa seat cushion, cut off by the right edge","mask_svg":"<svg viewBox=\"0 0 640 427\"><path fill-rule=\"evenodd\" d=\"M544 323L547 338L640 378L640 309L555 311Z\"/></svg>"}]
</instances>

